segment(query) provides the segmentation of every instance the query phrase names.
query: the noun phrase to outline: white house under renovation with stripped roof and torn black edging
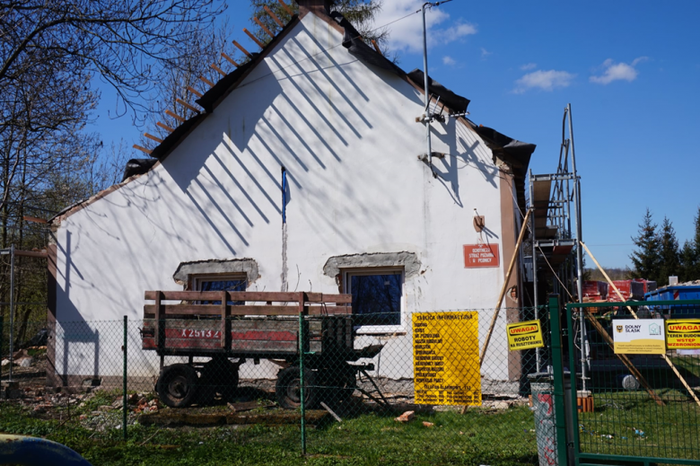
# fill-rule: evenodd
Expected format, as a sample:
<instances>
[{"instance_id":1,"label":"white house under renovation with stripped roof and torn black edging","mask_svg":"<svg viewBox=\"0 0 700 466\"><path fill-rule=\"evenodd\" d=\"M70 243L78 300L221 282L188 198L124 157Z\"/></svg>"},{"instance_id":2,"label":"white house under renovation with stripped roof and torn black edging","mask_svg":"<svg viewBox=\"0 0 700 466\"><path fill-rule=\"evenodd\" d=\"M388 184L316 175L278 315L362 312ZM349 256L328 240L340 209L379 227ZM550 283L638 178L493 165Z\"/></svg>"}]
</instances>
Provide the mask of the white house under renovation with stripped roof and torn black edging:
<instances>
[{"instance_id":1,"label":"white house under renovation with stripped roof and torn black edging","mask_svg":"<svg viewBox=\"0 0 700 466\"><path fill-rule=\"evenodd\" d=\"M378 375L393 378L412 377L415 312L486 310L483 339L535 146L449 116L469 101L431 81L446 116L431 125L431 163L416 122L423 73L368 47L328 2L299 4L267 47L203 92L201 113L151 161L52 219L49 381L119 377L118 321L143 318L146 290L353 294L358 316L382 312L358 317L356 339L384 345L394 363ZM475 267L465 251L481 244L495 259ZM521 289L520 280L515 273L508 286ZM381 300L361 295L372 281L384 287ZM482 369L503 381L521 370L504 338L520 298L506 299ZM100 333L95 321L114 329ZM158 374L155 355L138 339L128 345L130 371Z\"/></svg>"}]
</instances>

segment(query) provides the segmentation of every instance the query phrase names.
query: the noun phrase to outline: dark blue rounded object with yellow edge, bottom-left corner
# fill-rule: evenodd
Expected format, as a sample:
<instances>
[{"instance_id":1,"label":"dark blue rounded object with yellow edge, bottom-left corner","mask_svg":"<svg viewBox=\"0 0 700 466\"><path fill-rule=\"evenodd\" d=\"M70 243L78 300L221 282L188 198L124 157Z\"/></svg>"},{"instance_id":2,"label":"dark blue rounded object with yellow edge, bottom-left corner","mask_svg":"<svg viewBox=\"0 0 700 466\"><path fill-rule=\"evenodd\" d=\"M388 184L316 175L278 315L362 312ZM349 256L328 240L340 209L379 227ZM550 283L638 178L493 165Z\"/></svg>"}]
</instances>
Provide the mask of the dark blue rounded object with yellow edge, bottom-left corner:
<instances>
[{"instance_id":1,"label":"dark blue rounded object with yellow edge, bottom-left corner","mask_svg":"<svg viewBox=\"0 0 700 466\"><path fill-rule=\"evenodd\" d=\"M0 464L92 466L64 444L24 435L0 435Z\"/></svg>"}]
</instances>

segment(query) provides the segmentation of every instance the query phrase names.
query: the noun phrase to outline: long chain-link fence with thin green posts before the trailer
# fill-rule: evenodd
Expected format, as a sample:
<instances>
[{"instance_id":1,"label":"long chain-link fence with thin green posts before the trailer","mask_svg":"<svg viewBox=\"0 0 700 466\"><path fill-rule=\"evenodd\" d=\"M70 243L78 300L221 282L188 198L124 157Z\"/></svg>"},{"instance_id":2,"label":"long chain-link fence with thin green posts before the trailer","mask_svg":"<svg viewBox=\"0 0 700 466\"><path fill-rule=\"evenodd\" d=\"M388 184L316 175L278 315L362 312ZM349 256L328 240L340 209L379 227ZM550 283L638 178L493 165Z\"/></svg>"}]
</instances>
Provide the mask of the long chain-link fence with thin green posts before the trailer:
<instances>
[{"instance_id":1,"label":"long chain-link fence with thin green posts before the trailer","mask_svg":"<svg viewBox=\"0 0 700 466\"><path fill-rule=\"evenodd\" d=\"M58 321L26 375L15 366L22 403L93 438L118 435L126 413L138 438L252 424L299 452L389 463L536 464L536 430L553 426L551 390L530 400L528 378L550 372L545 308L417 312L397 326L342 303L306 303L301 318L295 303L170 305L139 321ZM508 324L536 319L544 346L510 351Z\"/></svg>"}]
</instances>

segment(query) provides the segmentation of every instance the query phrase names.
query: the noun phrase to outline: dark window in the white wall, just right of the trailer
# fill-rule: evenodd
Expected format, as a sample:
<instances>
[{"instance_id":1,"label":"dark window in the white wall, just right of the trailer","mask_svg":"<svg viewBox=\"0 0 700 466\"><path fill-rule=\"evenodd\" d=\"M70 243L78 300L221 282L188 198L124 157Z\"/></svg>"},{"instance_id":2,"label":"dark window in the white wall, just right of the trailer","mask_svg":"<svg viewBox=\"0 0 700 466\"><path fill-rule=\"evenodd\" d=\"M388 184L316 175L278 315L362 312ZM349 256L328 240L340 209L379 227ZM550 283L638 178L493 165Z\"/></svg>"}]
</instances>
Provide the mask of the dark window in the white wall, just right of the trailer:
<instances>
[{"instance_id":1,"label":"dark window in the white wall, just right of the trailer","mask_svg":"<svg viewBox=\"0 0 700 466\"><path fill-rule=\"evenodd\" d=\"M353 295L355 325L400 325L402 278L400 270L347 272Z\"/></svg>"}]
</instances>

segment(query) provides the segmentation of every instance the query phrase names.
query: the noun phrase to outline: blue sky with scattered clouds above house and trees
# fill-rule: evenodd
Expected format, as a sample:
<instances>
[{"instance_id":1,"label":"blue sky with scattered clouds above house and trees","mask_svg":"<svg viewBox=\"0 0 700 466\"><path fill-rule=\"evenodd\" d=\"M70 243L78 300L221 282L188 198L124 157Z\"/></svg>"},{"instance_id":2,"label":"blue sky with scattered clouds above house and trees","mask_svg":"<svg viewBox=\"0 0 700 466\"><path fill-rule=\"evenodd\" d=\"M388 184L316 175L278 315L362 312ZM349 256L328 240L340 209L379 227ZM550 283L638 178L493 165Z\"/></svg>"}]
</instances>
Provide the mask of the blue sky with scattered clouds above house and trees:
<instances>
[{"instance_id":1,"label":"blue sky with scattered clouds above house and trees","mask_svg":"<svg viewBox=\"0 0 700 466\"><path fill-rule=\"evenodd\" d=\"M420 9L385 0L378 26ZM244 47L249 2L229 2ZM429 73L471 100L477 124L537 144L530 167L556 171L564 107L573 107L582 177L583 240L606 267L630 264L630 237L646 207L668 216L678 241L693 234L700 207L700 2L468 2L428 13ZM399 66L423 67L421 17L389 26ZM97 110L109 145L139 137L128 118L109 119L108 90ZM134 151L135 157L143 154ZM592 264L591 264L592 265Z\"/></svg>"}]
</instances>

